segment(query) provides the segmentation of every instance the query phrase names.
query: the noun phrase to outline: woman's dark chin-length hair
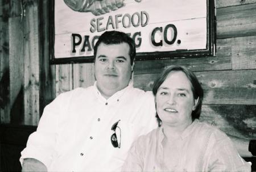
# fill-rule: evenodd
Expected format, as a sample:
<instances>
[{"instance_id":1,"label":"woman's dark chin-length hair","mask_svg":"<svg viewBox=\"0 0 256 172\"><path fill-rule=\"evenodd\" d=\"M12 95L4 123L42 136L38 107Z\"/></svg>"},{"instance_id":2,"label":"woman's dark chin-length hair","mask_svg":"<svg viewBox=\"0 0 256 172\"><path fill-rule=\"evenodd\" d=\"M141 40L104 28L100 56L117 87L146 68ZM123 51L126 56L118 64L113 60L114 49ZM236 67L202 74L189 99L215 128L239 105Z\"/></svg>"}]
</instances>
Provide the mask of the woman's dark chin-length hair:
<instances>
[{"instance_id":1,"label":"woman's dark chin-length hair","mask_svg":"<svg viewBox=\"0 0 256 172\"><path fill-rule=\"evenodd\" d=\"M170 66L169 68L165 69L160 74L160 76L158 78L156 78L156 80L154 82L153 94L154 94L154 96L156 96L156 93L157 93L159 87L166 80L166 78L168 77L168 74L170 74L171 72L178 72L178 71L183 72L187 76L188 80L190 81L191 90L192 90L194 99L199 98L199 101L197 102L197 105L196 105L196 109L193 110L192 114L191 114L192 121L194 121L195 119L199 119L199 117L200 117L202 102L203 102L203 97L204 97L204 91L203 91L203 88L201 87L201 84L198 81L196 75L191 70L189 70L183 66ZM156 112L156 118L158 119L158 124L160 126L162 121L160 120L157 112Z\"/></svg>"}]
</instances>

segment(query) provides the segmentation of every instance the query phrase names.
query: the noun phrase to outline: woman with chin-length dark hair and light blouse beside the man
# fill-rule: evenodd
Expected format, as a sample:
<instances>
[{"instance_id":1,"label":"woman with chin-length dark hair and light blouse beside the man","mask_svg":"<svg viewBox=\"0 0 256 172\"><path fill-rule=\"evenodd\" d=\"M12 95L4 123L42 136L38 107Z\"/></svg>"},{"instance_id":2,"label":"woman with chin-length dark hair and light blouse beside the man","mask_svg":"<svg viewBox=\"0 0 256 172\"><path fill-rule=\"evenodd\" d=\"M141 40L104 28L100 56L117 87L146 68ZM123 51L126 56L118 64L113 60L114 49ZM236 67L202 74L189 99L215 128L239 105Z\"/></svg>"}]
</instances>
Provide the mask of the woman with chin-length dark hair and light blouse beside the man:
<instances>
[{"instance_id":1,"label":"woman with chin-length dark hair and light blouse beside the man","mask_svg":"<svg viewBox=\"0 0 256 172\"><path fill-rule=\"evenodd\" d=\"M229 137L201 123L203 89L181 66L164 70L153 86L159 127L134 142L123 171L250 171Z\"/></svg>"}]
</instances>

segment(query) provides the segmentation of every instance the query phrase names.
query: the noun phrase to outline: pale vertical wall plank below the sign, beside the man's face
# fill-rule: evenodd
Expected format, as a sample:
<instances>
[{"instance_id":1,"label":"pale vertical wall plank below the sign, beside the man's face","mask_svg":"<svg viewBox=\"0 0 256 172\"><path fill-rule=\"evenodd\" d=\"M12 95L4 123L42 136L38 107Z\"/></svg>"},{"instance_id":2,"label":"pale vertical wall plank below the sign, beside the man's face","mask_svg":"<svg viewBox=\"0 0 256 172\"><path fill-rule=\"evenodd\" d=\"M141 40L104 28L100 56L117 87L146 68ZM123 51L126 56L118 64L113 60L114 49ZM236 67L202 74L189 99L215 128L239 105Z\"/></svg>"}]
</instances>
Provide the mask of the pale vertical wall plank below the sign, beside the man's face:
<instances>
[{"instance_id":1,"label":"pale vertical wall plank below the sign, beside the man's face","mask_svg":"<svg viewBox=\"0 0 256 172\"><path fill-rule=\"evenodd\" d=\"M88 87L93 85L95 82L93 66L93 63L73 65L74 89L76 87Z\"/></svg>"}]
</instances>

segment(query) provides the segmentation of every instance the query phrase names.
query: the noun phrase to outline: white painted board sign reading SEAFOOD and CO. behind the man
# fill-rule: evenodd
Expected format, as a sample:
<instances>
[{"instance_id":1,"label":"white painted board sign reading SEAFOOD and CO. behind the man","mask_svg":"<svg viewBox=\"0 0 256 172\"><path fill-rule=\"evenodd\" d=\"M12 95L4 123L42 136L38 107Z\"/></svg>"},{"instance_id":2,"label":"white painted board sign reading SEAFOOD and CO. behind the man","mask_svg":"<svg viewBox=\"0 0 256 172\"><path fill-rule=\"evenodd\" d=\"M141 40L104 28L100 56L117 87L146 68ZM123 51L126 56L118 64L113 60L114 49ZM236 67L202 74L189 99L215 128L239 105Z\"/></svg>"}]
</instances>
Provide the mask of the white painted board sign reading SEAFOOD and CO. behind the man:
<instances>
[{"instance_id":1,"label":"white painted board sign reading SEAFOOD and CO. behind the man","mask_svg":"<svg viewBox=\"0 0 256 172\"><path fill-rule=\"evenodd\" d=\"M137 59L211 55L205 0L55 0L54 57L90 62L98 36L122 31L135 41ZM191 55L191 54L190 54Z\"/></svg>"}]
</instances>

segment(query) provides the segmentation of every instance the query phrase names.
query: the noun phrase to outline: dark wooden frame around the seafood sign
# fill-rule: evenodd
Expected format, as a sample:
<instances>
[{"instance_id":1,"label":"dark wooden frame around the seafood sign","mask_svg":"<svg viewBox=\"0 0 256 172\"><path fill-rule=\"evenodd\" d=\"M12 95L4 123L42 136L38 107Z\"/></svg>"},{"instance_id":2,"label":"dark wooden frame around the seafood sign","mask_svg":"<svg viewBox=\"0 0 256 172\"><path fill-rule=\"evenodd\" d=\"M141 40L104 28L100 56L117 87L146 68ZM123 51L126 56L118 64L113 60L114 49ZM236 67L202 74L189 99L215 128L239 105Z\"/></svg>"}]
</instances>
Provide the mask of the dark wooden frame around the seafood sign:
<instances>
[{"instance_id":1,"label":"dark wooden frame around the seafood sign","mask_svg":"<svg viewBox=\"0 0 256 172\"><path fill-rule=\"evenodd\" d=\"M50 14L50 64L73 64L93 62L93 56L79 56L79 57L55 57L55 1L51 3ZM119 9L118 9L119 10ZM216 49L216 14L215 14L214 1L207 0L207 40L206 48L204 49L176 49L175 51L155 51L155 52L138 52L136 60L156 60L165 58L177 57L204 57L215 56ZM100 32L100 35L103 32ZM179 41L179 40L178 40Z\"/></svg>"}]
</instances>

